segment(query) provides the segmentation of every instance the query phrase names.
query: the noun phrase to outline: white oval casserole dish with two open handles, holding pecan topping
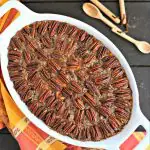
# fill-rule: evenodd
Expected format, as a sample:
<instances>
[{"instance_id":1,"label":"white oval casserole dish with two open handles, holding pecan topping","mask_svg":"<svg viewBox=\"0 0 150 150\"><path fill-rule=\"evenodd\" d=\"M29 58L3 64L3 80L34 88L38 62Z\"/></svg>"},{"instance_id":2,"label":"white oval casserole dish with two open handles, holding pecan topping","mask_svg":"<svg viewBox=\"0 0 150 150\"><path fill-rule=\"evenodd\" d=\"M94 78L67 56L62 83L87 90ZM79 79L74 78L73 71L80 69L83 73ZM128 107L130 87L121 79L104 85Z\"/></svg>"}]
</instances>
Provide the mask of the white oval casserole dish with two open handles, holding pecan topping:
<instances>
[{"instance_id":1,"label":"white oval casserole dish with two open handles, holding pecan topping","mask_svg":"<svg viewBox=\"0 0 150 150\"><path fill-rule=\"evenodd\" d=\"M19 107L19 109L31 120L37 127L39 127L41 130L49 134L50 136L61 140L63 142L81 146L81 147L89 147L89 148L105 148L105 149L111 149L111 150L117 150L119 149L119 146L134 132L134 130L139 126L142 125L146 131L147 135L144 138L144 140L135 148L142 150L144 147L149 144L150 139L150 123L145 118L145 116L142 114L140 107L139 107L139 93L136 85L135 78L133 76L133 73L131 71L131 68L129 67L129 64L127 63L124 56L121 54L121 52L118 50L118 48L102 33L94 29L93 27L79 21L76 19L73 19L71 17L66 17L63 15L57 15L57 14L38 14L31 10L29 10L27 7L25 7L23 4L21 4L18 1L9 1L6 4L4 4L2 7L0 7L0 17L6 13L10 8L16 8L20 11L20 16L0 35L0 54L1 54L1 67L2 67L2 73L3 77L6 83L6 86L14 99L15 103ZM58 20L58 21L64 21L67 23L70 23L72 25L77 26L78 28L84 29L89 34L94 35L97 39L103 42L103 44L108 47L112 53L119 59L121 65L126 71L126 74L128 76L131 89L133 91L133 110L131 118L128 122L128 124L124 127L124 129L117 135L107 138L102 141L98 142L81 142L78 140L74 140L70 137L63 136L53 130L51 130L44 122L42 122L40 119L38 119L36 116L34 116L27 108L27 106L21 101L20 96L16 92L16 90L13 87L13 83L10 80L9 73L7 70L7 64L8 64L8 57L7 57L7 47L9 45L10 39L12 36L15 35L15 33L23 28L24 26L31 24L35 21L41 21L41 20Z\"/></svg>"}]
</instances>

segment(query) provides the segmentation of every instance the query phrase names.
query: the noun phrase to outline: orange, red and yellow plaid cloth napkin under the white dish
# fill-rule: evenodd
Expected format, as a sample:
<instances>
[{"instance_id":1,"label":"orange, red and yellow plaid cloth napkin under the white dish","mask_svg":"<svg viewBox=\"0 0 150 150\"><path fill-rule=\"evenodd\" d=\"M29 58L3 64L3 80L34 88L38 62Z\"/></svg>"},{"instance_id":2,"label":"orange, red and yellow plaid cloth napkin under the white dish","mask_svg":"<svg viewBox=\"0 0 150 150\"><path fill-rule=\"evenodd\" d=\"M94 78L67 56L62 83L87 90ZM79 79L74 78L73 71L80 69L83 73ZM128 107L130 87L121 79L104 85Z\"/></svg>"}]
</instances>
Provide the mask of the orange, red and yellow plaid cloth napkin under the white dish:
<instances>
[{"instance_id":1,"label":"orange, red and yellow plaid cloth napkin under the white dish","mask_svg":"<svg viewBox=\"0 0 150 150\"><path fill-rule=\"evenodd\" d=\"M0 0L0 6L7 0ZM12 8L0 18L0 33L19 16ZM16 138L21 150L85 150L73 145L62 143L47 135L32 124L19 110L9 95L0 70L0 129L7 127ZM121 146L120 150L132 150L143 138L144 132L134 132ZM147 147L150 150L150 146Z\"/></svg>"}]
</instances>

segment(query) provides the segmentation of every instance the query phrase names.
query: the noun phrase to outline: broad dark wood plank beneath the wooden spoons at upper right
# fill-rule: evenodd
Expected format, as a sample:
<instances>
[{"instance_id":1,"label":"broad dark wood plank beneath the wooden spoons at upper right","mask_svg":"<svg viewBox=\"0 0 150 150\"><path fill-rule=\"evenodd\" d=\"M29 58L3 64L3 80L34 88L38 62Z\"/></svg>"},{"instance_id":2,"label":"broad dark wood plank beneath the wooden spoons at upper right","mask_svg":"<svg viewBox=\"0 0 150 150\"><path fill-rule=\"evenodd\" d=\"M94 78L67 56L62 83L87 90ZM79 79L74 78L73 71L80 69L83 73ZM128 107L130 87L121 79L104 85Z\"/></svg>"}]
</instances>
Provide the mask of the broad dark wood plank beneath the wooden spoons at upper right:
<instances>
[{"instance_id":1,"label":"broad dark wood plank beneath the wooden spoons at upper right","mask_svg":"<svg viewBox=\"0 0 150 150\"><path fill-rule=\"evenodd\" d=\"M105 2L105 5L116 14L119 14L116 3ZM120 49L130 65L150 66L150 55L142 54L134 45L111 33L110 29L101 21L85 15L81 9L82 3L26 3L26 6L35 12L63 14L82 20L106 35ZM140 10L142 10L142 13ZM149 41L150 3L127 3L127 11L129 14L130 35L139 40Z\"/></svg>"}]
</instances>

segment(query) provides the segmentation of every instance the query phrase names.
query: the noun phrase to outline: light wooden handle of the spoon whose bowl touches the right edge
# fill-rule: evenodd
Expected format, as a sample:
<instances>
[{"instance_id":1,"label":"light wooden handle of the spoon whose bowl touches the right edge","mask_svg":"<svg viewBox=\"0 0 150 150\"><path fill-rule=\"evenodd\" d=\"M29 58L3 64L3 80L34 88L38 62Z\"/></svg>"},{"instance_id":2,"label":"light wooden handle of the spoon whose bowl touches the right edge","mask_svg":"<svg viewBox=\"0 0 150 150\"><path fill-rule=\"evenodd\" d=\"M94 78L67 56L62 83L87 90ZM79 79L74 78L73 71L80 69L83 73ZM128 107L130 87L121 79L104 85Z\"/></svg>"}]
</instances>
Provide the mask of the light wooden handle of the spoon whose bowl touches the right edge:
<instances>
[{"instance_id":1,"label":"light wooden handle of the spoon whose bowl touches the right edge","mask_svg":"<svg viewBox=\"0 0 150 150\"><path fill-rule=\"evenodd\" d=\"M130 37L129 35L127 35L126 33L122 32L122 31L119 31L115 28L112 28L112 32L116 33L117 35L121 36L122 38L128 40L129 42L133 43L133 44L137 44L138 41L135 40L134 38Z\"/></svg>"}]
</instances>

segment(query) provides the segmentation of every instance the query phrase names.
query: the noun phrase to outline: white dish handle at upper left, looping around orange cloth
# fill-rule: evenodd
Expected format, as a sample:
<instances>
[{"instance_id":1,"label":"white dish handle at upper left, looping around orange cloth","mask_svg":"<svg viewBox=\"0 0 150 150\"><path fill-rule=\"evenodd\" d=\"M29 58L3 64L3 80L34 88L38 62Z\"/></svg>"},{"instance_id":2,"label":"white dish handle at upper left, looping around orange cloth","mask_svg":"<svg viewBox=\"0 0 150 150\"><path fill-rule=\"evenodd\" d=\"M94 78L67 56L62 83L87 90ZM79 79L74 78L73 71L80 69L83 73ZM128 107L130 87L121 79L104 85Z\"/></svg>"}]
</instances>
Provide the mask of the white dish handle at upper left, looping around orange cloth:
<instances>
[{"instance_id":1,"label":"white dish handle at upper left, looping around orange cloth","mask_svg":"<svg viewBox=\"0 0 150 150\"><path fill-rule=\"evenodd\" d=\"M2 44L3 39L7 37L7 33L12 31L12 29L18 25L19 23L22 23L24 19L28 18L31 15L34 15L34 12L25 7L22 3L19 1L8 1L3 6L0 7L0 18L11 8L15 8L19 11L20 15L17 19L15 19L4 32L0 34L0 44ZM36 13L35 13L36 14Z\"/></svg>"}]
</instances>

